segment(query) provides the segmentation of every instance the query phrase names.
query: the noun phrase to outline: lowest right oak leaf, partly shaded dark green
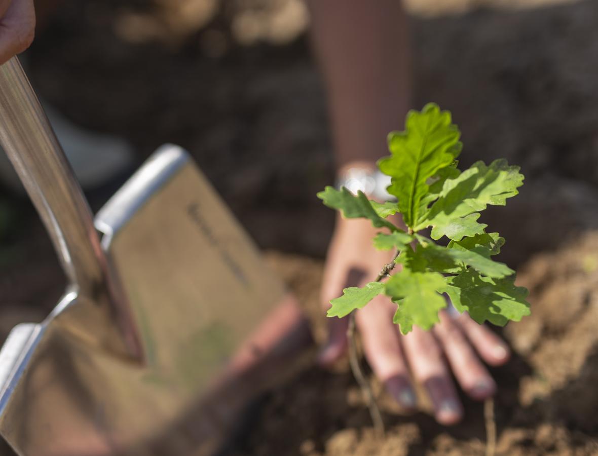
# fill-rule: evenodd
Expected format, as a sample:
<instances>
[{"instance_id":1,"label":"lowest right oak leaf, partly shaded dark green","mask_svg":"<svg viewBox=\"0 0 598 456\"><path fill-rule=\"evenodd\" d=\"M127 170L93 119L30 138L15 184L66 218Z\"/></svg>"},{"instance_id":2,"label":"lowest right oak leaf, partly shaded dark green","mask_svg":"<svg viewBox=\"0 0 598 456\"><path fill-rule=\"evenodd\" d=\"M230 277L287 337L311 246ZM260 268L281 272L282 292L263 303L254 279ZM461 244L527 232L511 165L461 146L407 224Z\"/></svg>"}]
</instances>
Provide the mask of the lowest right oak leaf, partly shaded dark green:
<instances>
[{"instance_id":1,"label":"lowest right oak leaf, partly shaded dark green","mask_svg":"<svg viewBox=\"0 0 598 456\"><path fill-rule=\"evenodd\" d=\"M459 276L445 277L443 290L459 312L468 311L478 323L486 320L504 326L530 314L527 289L515 286L515 276L493 279L468 269Z\"/></svg>"}]
</instances>

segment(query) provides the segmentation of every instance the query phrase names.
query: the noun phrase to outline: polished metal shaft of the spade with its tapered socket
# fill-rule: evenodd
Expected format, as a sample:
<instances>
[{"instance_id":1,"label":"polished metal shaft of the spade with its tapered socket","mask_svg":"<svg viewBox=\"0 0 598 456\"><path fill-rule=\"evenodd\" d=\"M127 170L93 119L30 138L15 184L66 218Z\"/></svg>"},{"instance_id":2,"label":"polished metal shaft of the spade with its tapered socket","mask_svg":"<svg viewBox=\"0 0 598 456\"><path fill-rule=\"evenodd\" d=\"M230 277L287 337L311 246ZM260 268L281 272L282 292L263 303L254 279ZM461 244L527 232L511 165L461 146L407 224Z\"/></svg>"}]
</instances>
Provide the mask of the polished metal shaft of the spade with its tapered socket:
<instances>
[{"instance_id":1,"label":"polished metal shaft of the spade with its tapered socket","mask_svg":"<svg viewBox=\"0 0 598 456\"><path fill-rule=\"evenodd\" d=\"M136 328L100 249L87 201L17 57L0 66L0 142L80 297L62 323L89 343L141 358ZM88 308L82 312L83 307ZM99 320L118 325L97 331Z\"/></svg>"}]
</instances>

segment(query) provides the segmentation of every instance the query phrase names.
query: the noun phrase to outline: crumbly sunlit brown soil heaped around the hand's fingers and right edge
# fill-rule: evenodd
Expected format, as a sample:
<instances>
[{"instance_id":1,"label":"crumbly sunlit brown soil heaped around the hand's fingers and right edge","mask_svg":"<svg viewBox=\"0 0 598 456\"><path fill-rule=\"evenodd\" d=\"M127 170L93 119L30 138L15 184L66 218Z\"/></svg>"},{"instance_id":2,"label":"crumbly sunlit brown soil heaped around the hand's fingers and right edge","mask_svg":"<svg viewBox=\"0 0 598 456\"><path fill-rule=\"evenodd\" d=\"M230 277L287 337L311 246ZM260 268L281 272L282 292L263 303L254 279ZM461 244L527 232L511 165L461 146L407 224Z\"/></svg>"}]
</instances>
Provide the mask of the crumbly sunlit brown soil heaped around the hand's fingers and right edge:
<instances>
[{"instance_id":1,"label":"crumbly sunlit brown soil heaped around the hand's fingers and right edge","mask_svg":"<svg viewBox=\"0 0 598 456\"><path fill-rule=\"evenodd\" d=\"M271 254L289 285L306 302L321 332L318 286L322 265ZM494 369L498 454L598 453L598 231L554 253L535 256L520 270L530 289L532 316L511 324L508 365ZM308 368L273 391L237 442L235 455L480 455L485 430L480 403L465 400L466 418L445 428L425 412L399 415L380 393L388 426L374 437L349 369Z\"/></svg>"}]
</instances>

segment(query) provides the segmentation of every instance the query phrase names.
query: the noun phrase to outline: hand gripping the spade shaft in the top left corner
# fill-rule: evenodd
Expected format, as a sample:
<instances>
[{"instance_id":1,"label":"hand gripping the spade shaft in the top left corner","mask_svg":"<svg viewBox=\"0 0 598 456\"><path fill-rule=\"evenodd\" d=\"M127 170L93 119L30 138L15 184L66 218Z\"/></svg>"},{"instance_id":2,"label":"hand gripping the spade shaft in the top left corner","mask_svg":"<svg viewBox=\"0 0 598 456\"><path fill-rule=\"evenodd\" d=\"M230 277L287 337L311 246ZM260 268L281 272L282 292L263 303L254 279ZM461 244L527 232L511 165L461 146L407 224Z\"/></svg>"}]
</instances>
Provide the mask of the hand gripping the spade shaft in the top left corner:
<instances>
[{"instance_id":1,"label":"hand gripping the spade shaft in the top left corner","mask_svg":"<svg viewBox=\"0 0 598 456\"><path fill-rule=\"evenodd\" d=\"M0 0L0 64L25 51L34 34L33 0Z\"/></svg>"}]
</instances>

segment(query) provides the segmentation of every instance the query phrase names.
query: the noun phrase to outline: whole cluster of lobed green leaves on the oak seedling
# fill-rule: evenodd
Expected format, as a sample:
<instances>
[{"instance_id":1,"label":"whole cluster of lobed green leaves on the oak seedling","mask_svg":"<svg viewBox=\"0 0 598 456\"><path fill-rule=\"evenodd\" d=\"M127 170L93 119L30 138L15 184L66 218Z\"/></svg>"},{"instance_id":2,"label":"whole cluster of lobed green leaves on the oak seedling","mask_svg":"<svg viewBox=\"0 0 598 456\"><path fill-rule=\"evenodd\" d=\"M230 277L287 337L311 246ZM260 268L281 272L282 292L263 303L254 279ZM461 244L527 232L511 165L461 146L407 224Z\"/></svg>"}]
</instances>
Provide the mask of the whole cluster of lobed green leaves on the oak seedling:
<instances>
[{"instance_id":1,"label":"whole cluster of lobed green leaves on the oak seedling","mask_svg":"<svg viewBox=\"0 0 598 456\"><path fill-rule=\"evenodd\" d=\"M346 288L332 299L329 317L347 316L381 294L396 303L393 321L404 334L413 325L431 329L447 306L445 296L478 323L504 326L529 315L527 289L515 286L515 271L492 259L504 238L478 222L489 204L505 206L507 198L517 195L523 175L502 159L459 170L459 139L450 112L429 103L421 112L407 114L404 131L389 134L390 156L378 162L380 171L391 177L388 192L396 202L379 203L361 191L354 195L332 186L318 193L344 217L367 218L380 228L373 240L376 249L396 250L378 280ZM401 214L407 231L389 221L395 213ZM430 228L426 237L423 232ZM443 238L446 246L437 243ZM400 271L395 264L402 266Z\"/></svg>"}]
</instances>

